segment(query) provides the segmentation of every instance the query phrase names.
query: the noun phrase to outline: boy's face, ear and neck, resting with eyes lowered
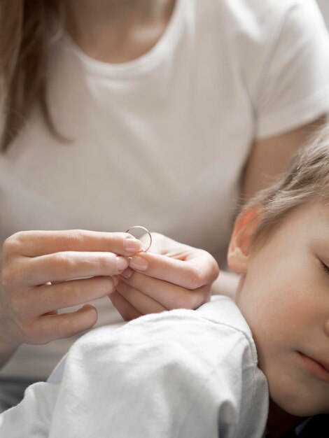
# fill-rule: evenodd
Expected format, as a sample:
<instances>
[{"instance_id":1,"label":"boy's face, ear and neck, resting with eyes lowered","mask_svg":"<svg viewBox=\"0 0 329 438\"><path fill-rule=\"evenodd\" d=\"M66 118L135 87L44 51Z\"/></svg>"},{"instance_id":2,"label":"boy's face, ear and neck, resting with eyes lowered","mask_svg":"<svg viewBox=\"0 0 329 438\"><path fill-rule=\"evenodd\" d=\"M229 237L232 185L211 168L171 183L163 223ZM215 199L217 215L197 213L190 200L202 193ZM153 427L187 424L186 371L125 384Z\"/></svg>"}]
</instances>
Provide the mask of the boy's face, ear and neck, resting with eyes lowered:
<instances>
[{"instance_id":1,"label":"boy's face, ear and neck, resting with eyes lowered","mask_svg":"<svg viewBox=\"0 0 329 438\"><path fill-rule=\"evenodd\" d=\"M269 383L271 436L281 437L303 417L329 413L329 209L300 206L253 244L261 215L241 213L228 263L241 276L236 302Z\"/></svg>"}]
</instances>

